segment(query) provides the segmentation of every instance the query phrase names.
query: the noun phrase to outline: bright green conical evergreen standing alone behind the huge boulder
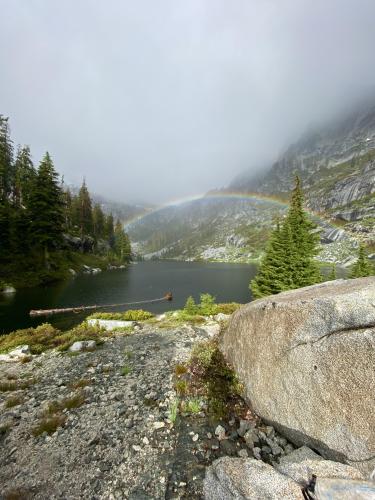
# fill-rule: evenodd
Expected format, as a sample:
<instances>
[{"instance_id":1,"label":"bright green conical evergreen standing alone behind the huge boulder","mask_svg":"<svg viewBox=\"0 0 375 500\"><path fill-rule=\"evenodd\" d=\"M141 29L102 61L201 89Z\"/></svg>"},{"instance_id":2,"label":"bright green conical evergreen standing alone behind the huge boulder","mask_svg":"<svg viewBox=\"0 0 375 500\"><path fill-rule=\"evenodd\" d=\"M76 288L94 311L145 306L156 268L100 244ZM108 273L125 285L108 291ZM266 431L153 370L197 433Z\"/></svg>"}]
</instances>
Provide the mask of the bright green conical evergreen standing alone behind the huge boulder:
<instances>
[{"instance_id":1,"label":"bright green conical evergreen standing alone behind the huge boulder","mask_svg":"<svg viewBox=\"0 0 375 500\"><path fill-rule=\"evenodd\" d=\"M258 274L250 283L255 298L321 281L317 253L319 236L303 210L301 183L296 177L288 214L278 221L261 261Z\"/></svg>"}]
</instances>

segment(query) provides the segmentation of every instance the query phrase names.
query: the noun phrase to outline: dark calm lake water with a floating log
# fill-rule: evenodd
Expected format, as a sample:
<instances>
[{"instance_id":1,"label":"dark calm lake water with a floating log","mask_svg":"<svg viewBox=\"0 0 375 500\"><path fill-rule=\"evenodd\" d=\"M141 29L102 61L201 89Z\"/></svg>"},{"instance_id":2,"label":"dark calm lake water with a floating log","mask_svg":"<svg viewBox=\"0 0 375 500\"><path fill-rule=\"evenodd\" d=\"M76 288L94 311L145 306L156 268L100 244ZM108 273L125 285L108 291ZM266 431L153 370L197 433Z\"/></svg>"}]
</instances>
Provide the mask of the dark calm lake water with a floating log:
<instances>
[{"instance_id":1,"label":"dark calm lake water with a floating log","mask_svg":"<svg viewBox=\"0 0 375 500\"><path fill-rule=\"evenodd\" d=\"M173 293L173 302L145 304L143 308L160 313L184 306L192 295L202 292L214 295L218 302L251 300L249 282L256 274L253 264L200 262L139 262L128 269L104 271L97 275L81 275L50 286L18 290L12 296L0 296L0 333L49 322L61 329L80 323L90 312L30 318L30 309L92 304L113 304L163 297ZM124 308L118 308L118 310ZM103 309L101 309L103 310ZM110 309L116 311L115 308Z\"/></svg>"}]
</instances>

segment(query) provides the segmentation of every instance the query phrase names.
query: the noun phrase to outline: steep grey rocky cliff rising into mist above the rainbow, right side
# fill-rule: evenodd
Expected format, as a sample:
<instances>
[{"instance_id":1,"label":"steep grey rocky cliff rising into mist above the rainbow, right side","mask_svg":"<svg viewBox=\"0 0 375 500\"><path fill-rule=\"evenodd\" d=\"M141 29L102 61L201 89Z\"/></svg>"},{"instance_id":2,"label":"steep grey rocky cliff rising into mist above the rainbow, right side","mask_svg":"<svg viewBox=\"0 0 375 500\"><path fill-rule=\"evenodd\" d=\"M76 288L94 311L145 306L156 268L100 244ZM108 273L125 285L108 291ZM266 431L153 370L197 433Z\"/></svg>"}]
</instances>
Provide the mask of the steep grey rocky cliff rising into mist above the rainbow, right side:
<instances>
[{"instance_id":1,"label":"steep grey rocky cliff rising into mist above the rainbow, right side","mask_svg":"<svg viewBox=\"0 0 375 500\"><path fill-rule=\"evenodd\" d=\"M295 173L303 180L312 210L335 220L374 226L375 104L367 103L329 126L309 131L262 178L244 174L229 189L286 198ZM360 232L365 240L375 240L373 231Z\"/></svg>"}]
</instances>

